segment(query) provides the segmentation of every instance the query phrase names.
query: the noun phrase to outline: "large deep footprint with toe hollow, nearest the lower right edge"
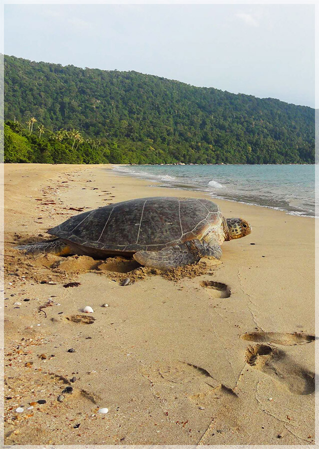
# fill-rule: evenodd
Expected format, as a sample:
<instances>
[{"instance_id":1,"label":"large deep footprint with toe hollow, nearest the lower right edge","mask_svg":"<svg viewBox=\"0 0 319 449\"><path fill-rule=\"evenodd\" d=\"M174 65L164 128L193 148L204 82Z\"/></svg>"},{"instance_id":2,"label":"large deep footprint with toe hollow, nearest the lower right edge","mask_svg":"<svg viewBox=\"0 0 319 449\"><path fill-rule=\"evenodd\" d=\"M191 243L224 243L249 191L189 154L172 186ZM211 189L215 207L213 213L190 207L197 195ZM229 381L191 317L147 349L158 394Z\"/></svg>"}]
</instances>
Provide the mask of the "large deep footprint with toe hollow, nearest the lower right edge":
<instances>
[{"instance_id":1,"label":"large deep footprint with toe hollow, nearest the lower right edge","mask_svg":"<svg viewBox=\"0 0 319 449\"><path fill-rule=\"evenodd\" d=\"M315 374L295 363L279 348L264 344L249 346L246 363L273 377L291 393L309 395L315 391Z\"/></svg>"}]
</instances>

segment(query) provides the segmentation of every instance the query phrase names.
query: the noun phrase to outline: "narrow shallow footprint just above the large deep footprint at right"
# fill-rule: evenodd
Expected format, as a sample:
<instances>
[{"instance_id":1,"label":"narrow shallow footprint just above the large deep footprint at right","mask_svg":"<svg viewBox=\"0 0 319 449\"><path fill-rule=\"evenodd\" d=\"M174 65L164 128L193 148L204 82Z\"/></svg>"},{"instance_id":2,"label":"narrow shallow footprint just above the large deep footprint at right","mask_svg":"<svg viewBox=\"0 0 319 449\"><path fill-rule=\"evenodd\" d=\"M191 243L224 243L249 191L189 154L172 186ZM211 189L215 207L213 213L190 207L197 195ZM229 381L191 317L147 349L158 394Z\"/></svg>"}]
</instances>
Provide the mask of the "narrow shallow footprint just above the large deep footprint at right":
<instances>
[{"instance_id":1,"label":"narrow shallow footprint just above the large deep footprint at right","mask_svg":"<svg viewBox=\"0 0 319 449\"><path fill-rule=\"evenodd\" d=\"M247 332L240 336L241 339L256 343L274 343L276 345L294 346L304 345L315 340L314 335L294 332L293 334L280 332Z\"/></svg>"}]
</instances>

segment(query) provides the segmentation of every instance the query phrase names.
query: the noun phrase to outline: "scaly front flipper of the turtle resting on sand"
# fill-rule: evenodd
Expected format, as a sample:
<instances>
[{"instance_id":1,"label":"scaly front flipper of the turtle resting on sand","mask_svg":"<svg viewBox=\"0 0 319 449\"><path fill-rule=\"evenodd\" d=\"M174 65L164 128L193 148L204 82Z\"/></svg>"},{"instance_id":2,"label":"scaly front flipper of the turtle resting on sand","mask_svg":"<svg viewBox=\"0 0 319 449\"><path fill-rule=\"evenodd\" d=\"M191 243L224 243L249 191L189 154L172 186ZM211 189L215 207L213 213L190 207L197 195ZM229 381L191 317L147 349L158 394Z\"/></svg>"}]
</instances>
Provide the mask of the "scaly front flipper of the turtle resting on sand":
<instances>
[{"instance_id":1,"label":"scaly front flipper of the turtle resting on sand","mask_svg":"<svg viewBox=\"0 0 319 449\"><path fill-rule=\"evenodd\" d=\"M167 271L198 262L201 257L213 256L220 259L221 255L222 250L219 245L210 246L205 241L195 239L168 246L160 251L137 251L133 257L141 265Z\"/></svg>"}]
</instances>

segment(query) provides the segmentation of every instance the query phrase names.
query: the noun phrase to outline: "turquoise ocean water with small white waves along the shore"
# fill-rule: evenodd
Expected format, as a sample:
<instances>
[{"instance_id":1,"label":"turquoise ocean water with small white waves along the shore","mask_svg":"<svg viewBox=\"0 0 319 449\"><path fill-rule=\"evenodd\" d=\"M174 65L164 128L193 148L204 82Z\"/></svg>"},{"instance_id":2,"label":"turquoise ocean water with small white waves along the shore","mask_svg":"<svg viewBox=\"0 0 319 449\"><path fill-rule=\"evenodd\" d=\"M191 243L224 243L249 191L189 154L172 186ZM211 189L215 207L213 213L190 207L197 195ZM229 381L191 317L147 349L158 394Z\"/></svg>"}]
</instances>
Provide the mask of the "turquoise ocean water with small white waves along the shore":
<instances>
[{"instance_id":1,"label":"turquoise ocean water with small white waves along the shore","mask_svg":"<svg viewBox=\"0 0 319 449\"><path fill-rule=\"evenodd\" d=\"M162 187L316 216L315 165L143 165L114 166L114 170Z\"/></svg>"}]
</instances>

